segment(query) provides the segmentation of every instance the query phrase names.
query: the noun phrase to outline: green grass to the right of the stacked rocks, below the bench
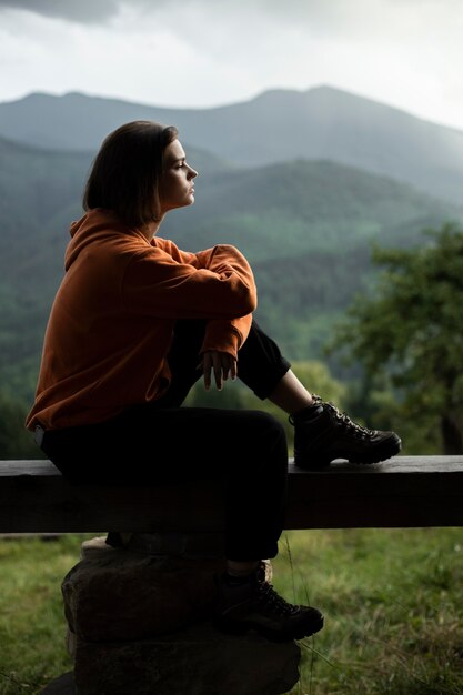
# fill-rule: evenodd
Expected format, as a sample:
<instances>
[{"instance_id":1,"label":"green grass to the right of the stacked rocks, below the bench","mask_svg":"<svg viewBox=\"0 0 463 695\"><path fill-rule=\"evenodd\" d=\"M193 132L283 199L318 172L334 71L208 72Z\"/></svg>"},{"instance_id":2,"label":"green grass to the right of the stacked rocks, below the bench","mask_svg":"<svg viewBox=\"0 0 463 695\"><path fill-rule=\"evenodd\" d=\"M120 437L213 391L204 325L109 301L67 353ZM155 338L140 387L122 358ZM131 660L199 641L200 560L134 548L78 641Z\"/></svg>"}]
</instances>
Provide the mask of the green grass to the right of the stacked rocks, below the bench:
<instances>
[{"instance_id":1,"label":"green grass to the right of the stacked rocks, below the bench","mask_svg":"<svg viewBox=\"0 0 463 695\"><path fill-rule=\"evenodd\" d=\"M462 561L461 528L285 533L275 588L325 615L291 693L463 693Z\"/></svg>"}]
</instances>

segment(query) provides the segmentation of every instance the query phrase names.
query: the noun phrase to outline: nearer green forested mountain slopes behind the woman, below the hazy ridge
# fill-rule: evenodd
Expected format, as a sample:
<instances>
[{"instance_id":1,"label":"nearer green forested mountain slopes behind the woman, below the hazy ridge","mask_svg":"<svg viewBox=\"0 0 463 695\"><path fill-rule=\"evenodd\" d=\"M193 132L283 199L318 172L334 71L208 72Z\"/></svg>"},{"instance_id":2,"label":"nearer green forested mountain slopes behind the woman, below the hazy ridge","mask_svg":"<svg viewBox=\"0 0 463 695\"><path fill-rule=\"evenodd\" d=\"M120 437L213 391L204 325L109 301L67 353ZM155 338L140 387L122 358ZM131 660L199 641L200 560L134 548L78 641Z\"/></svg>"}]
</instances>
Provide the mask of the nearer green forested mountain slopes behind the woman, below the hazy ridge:
<instances>
[{"instance_id":1,"label":"nearer green forested mountain slopes behind the woman, below the hazy ridge","mask_svg":"<svg viewBox=\"0 0 463 695\"><path fill-rule=\"evenodd\" d=\"M424 228L463 220L459 207L332 161L239 169L190 153L203 172L197 201L160 234L185 250L240 248L258 280L256 315L293 360L320 356L353 295L369 291L373 242L422 244ZM0 383L29 401L92 157L0 139Z\"/></svg>"}]
</instances>

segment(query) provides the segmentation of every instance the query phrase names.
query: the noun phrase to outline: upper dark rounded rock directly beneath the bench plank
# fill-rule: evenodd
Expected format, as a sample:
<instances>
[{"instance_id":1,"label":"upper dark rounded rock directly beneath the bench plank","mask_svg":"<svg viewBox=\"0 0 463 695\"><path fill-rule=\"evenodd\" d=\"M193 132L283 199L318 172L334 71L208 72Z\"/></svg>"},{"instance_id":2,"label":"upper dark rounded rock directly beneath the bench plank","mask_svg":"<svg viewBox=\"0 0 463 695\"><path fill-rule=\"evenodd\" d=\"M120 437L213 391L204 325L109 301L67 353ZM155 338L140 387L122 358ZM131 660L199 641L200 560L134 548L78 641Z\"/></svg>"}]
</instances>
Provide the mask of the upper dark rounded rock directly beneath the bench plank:
<instances>
[{"instance_id":1,"label":"upper dark rounded rock directly beneath the bench plank","mask_svg":"<svg viewBox=\"0 0 463 695\"><path fill-rule=\"evenodd\" d=\"M222 557L147 555L94 543L61 590L70 629L89 642L144 639L212 614Z\"/></svg>"}]
</instances>

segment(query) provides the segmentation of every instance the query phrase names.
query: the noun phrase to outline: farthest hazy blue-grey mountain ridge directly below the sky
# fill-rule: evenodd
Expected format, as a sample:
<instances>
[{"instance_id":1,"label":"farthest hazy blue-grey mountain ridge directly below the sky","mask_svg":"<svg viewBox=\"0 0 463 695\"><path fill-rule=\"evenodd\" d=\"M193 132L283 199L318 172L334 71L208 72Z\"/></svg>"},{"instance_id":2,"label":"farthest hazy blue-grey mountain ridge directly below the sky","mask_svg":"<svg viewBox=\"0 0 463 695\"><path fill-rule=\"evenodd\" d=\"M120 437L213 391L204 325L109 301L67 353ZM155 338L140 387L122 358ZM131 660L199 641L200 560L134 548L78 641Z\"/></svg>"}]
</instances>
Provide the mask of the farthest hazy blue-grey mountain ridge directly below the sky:
<instances>
[{"instance_id":1,"label":"farthest hazy blue-grey mountain ridge directly below the sky","mask_svg":"<svg viewBox=\"0 0 463 695\"><path fill-rule=\"evenodd\" d=\"M135 119L173 123L187 154L190 147L199 148L239 168L324 159L462 202L462 131L324 85L270 90L211 109L33 93L0 103L0 135L44 148L95 151L108 132Z\"/></svg>"}]
</instances>

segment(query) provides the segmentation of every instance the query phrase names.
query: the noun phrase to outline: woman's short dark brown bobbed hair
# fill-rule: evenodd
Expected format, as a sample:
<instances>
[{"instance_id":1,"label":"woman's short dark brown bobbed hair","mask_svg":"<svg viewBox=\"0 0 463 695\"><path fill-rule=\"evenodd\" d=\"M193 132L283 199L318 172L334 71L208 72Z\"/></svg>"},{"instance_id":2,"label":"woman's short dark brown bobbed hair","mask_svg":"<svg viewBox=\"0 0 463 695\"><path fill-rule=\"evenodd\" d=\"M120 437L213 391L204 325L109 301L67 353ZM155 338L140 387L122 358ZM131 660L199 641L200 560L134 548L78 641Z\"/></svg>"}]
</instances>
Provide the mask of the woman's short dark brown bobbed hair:
<instances>
[{"instance_id":1,"label":"woman's short dark brown bobbed hair","mask_svg":"<svg viewBox=\"0 0 463 695\"><path fill-rule=\"evenodd\" d=\"M83 209L113 210L129 225L159 220L159 179L168 144L178 137L174 125L131 121L103 140L87 180Z\"/></svg>"}]
</instances>

